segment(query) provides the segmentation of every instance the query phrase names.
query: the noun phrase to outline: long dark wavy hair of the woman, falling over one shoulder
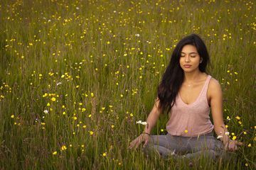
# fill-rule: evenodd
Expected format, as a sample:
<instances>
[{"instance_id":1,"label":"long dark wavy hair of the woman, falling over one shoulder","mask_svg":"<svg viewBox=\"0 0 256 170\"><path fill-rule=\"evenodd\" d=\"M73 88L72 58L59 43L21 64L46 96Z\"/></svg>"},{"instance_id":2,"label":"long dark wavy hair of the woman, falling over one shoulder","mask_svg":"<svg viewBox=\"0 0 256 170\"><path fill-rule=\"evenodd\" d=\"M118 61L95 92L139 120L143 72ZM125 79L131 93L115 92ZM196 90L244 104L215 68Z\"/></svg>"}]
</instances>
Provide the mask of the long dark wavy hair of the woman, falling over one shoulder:
<instances>
[{"instance_id":1,"label":"long dark wavy hair of the woman, falling over one shoulder","mask_svg":"<svg viewBox=\"0 0 256 170\"><path fill-rule=\"evenodd\" d=\"M178 42L174 48L169 65L166 67L166 71L164 72L157 89L159 110L161 113L164 113L166 109L167 113L171 111L171 108L174 106L176 101L176 95L178 94L181 84L183 83L184 73L179 64L179 60L181 57L181 50L185 45L193 45L196 47L201 60L203 59L203 61L199 64L199 70L201 72L206 72L206 66L208 62L210 62L206 45L199 35L191 34Z\"/></svg>"}]
</instances>

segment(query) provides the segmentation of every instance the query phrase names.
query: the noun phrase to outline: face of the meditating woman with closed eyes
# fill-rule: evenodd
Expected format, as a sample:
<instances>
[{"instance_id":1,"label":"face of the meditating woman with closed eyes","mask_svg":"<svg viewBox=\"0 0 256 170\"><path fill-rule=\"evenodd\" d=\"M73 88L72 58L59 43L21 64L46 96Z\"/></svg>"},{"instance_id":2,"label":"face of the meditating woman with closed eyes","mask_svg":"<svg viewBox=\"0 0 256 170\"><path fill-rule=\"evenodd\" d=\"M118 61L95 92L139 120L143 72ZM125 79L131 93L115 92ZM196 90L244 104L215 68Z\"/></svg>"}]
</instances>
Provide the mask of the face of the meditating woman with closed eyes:
<instances>
[{"instance_id":1,"label":"face of the meditating woman with closed eyes","mask_svg":"<svg viewBox=\"0 0 256 170\"><path fill-rule=\"evenodd\" d=\"M184 72L195 72L199 70L201 57L193 45L184 45L181 50L179 63Z\"/></svg>"}]
</instances>

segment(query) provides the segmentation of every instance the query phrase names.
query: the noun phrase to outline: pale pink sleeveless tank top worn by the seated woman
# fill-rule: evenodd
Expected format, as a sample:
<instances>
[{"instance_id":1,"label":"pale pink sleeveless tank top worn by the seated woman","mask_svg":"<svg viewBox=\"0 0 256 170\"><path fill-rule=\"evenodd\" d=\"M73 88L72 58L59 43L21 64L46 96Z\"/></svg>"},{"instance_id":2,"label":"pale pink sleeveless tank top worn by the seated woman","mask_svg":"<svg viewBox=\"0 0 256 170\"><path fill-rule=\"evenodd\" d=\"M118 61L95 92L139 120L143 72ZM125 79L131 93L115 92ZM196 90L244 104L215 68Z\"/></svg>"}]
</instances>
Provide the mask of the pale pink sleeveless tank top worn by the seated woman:
<instances>
[{"instance_id":1,"label":"pale pink sleeveless tank top worn by the seated woman","mask_svg":"<svg viewBox=\"0 0 256 170\"><path fill-rule=\"evenodd\" d=\"M166 130L171 135L194 137L211 132L214 128L210 122L210 107L207 100L207 89L210 82L208 75L203 89L198 98L191 104L182 101L181 96L176 96L176 103L171 108Z\"/></svg>"}]
</instances>

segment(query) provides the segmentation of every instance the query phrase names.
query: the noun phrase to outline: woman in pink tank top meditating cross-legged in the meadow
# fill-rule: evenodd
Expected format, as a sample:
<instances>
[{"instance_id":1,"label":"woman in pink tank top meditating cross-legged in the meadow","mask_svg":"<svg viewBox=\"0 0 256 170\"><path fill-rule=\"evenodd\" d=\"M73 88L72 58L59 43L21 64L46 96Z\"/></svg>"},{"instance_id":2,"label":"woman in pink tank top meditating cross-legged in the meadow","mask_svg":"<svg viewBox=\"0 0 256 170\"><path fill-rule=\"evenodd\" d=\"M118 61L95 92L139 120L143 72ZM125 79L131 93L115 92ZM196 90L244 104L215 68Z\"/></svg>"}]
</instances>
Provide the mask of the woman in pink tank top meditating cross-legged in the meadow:
<instances>
[{"instance_id":1,"label":"woman in pink tank top meditating cross-legged in the meadow","mask_svg":"<svg viewBox=\"0 0 256 170\"><path fill-rule=\"evenodd\" d=\"M223 155L223 149L233 152L242 145L228 137L223 122L222 91L218 81L206 74L208 62L206 45L198 35L188 35L178 42L158 86L158 97L144 132L129 148L137 148L144 142L147 154L156 151L162 157L190 158L206 154L215 158ZM167 135L151 135L151 129L164 111L171 111ZM222 142L213 137L213 129Z\"/></svg>"}]
</instances>

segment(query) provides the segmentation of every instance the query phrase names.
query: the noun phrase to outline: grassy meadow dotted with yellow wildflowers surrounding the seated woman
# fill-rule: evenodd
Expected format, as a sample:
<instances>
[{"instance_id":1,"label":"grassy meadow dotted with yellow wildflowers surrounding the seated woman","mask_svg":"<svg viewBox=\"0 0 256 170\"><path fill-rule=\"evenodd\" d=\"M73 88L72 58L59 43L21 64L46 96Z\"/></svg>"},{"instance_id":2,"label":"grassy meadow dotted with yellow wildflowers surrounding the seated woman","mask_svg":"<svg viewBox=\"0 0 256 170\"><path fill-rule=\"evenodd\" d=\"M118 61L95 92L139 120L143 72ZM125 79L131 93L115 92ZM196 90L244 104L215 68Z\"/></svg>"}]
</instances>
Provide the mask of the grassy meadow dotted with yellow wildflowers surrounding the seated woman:
<instances>
[{"instance_id":1,"label":"grassy meadow dotted with yellow wildflowers surrounding the seated woman","mask_svg":"<svg viewBox=\"0 0 256 170\"><path fill-rule=\"evenodd\" d=\"M255 169L255 1L0 1L0 169ZM178 40L201 35L236 159L146 158L144 129ZM165 134L162 115L152 134Z\"/></svg>"}]
</instances>

